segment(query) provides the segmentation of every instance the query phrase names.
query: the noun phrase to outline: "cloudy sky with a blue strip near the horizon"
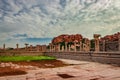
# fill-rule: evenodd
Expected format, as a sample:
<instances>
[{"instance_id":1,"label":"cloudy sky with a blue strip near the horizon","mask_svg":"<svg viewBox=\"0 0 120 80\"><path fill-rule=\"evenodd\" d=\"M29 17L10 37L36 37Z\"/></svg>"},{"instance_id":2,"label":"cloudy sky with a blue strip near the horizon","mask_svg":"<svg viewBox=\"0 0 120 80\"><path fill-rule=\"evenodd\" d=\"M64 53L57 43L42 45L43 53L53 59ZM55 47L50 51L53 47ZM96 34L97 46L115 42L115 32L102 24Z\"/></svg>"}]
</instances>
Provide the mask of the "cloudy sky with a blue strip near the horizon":
<instances>
[{"instance_id":1,"label":"cloudy sky with a blue strip near the horizon","mask_svg":"<svg viewBox=\"0 0 120 80\"><path fill-rule=\"evenodd\" d=\"M48 44L60 34L120 32L120 0L0 0L0 47Z\"/></svg>"}]
</instances>

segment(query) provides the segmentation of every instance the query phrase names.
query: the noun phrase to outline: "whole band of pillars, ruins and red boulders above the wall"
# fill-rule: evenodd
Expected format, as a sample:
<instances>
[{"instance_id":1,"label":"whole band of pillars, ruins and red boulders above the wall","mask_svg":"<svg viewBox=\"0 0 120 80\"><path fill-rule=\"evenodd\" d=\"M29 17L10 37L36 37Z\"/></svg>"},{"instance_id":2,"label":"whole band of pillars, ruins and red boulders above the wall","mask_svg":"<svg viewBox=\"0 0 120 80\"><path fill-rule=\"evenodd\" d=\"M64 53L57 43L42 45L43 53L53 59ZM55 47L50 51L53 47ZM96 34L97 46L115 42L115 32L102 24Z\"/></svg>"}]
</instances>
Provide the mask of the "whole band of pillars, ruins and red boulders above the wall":
<instances>
[{"instance_id":1,"label":"whole band of pillars, ruins and red boulders above the wall","mask_svg":"<svg viewBox=\"0 0 120 80\"><path fill-rule=\"evenodd\" d=\"M19 48L19 44L16 44L16 48L14 50L17 51L120 51L120 32L113 35L106 35L101 37L100 34L94 34L94 39L89 40L88 38L83 38L81 34L68 35L63 34L59 35L51 41L51 43L47 45L29 45L25 43L24 48ZM100 38L101 37L101 38ZM3 49L6 50L6 45L3 44Z\"/></svg>"}]
</instances>

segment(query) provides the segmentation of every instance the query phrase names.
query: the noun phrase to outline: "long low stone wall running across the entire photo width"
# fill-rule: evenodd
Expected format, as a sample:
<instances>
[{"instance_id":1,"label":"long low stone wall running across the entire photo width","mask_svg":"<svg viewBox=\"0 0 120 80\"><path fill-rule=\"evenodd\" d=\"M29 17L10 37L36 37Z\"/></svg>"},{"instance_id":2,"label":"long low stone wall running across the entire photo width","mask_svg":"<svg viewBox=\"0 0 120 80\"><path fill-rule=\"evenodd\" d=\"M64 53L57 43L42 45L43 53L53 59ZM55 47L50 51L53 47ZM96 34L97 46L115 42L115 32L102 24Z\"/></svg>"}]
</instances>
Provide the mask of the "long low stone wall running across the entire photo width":
<instances>
[{"instance_id":1,"label":"long low stone wall running across the entire photo width","mask_svg":"<svg viewBox=\"0 0 120 80\"><path fill-rule=\"evenodd\" d=\"M0 51L0 56L35 56L45 55L56 58L120 65L120 52L30 52L30 51Z\"/></svg>"}]
</instances>

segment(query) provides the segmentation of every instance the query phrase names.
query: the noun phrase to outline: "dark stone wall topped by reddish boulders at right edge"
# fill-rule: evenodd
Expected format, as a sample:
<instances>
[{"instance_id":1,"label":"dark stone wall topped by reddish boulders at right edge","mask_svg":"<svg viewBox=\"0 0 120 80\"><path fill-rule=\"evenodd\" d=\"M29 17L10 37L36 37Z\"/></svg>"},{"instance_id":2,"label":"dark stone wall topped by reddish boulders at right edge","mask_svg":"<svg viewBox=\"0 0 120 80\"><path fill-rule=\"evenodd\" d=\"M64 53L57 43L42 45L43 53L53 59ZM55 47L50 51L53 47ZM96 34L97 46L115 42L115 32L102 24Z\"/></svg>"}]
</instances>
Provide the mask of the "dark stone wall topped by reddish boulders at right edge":
<instances>
[{"instance_id":1,"label":"dark stone wall topped by reddish boulders at right edge","mask_svg":"<svg viewBox=\"0 0 120 80\"><path fill-rule=\"evenodd\" d=\"M102 37L100 51L120 51L120 32Z\"/></svg>"}]
</instances>

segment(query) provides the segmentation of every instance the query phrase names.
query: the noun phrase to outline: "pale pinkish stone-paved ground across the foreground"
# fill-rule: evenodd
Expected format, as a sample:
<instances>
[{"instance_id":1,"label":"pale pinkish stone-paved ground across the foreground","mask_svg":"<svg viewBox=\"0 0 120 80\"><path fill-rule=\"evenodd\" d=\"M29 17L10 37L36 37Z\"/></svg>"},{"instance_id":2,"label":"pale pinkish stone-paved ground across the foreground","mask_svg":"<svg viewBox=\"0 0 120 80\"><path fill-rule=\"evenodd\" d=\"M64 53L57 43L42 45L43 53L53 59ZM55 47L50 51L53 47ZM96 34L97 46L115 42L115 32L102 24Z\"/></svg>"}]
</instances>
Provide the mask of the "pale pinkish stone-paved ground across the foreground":
<instances>
[{"instance_id":1,"label":"pale pinkish stone-paved ground across the foreground","mask_svg":"<svg viewBox=\"0 0 120 80\"><path fill-rule=\"evenodd\" d=\"M0 77L0 80L120 80L120 67L60 59L70 66L28 70L25 75Z\"/></svg>"}]
</instances>

